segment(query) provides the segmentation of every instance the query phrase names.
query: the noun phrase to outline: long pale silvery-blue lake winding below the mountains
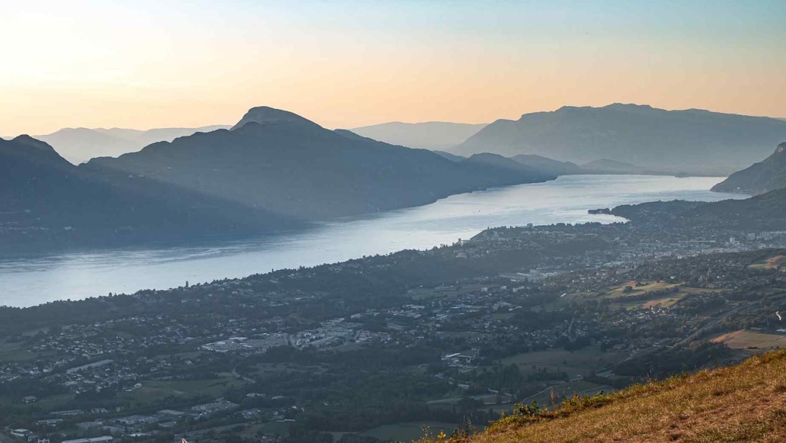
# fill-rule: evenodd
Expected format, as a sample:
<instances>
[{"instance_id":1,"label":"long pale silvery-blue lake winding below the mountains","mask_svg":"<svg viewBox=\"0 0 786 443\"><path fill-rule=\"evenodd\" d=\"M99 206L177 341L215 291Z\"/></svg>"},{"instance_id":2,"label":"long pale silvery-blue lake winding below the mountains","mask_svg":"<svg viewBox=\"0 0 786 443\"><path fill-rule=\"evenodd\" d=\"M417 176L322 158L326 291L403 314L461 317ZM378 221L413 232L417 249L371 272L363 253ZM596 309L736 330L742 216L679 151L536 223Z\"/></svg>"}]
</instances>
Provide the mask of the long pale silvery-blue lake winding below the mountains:
<instances>
[{"instance_id":1,"label":"long pale silvery-blue lake winding below the mountains","mask_svg":"<svg viewBox=\"0 0 786 443\"><path fill-rule=\"evenodd\" d=\"M140 289L167 289L271 269L341 262L468 239L487 227L619 221L587 210L653 200L715 201L744 196L710 192L722 178L573 175L509 186L314 229L200 247L73 252L0 260L0 305L34 306Z\"/></svg>"}]
</instances>

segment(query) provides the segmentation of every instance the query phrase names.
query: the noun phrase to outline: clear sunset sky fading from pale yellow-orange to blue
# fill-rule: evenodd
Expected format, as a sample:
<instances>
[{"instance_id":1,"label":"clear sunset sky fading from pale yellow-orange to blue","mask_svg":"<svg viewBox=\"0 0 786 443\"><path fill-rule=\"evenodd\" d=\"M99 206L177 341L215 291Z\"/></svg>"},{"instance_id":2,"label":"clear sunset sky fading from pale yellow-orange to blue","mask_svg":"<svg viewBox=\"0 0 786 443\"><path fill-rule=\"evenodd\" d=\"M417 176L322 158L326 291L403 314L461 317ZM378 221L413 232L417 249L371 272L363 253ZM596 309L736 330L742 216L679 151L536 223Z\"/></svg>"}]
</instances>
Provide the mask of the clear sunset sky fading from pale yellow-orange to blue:
<instances>
[{"instance_id":1,"label":"clear sunset sky fading from pale yellow-orange to blue","mask_svg":"<svg viewBox=\"0 0 786 443\"><path fill-rule=\"evenodd\" d=\"M487 123L622 102L786 117L786 2L0 0L0 134Z\"/></svg>"}]
</instances>

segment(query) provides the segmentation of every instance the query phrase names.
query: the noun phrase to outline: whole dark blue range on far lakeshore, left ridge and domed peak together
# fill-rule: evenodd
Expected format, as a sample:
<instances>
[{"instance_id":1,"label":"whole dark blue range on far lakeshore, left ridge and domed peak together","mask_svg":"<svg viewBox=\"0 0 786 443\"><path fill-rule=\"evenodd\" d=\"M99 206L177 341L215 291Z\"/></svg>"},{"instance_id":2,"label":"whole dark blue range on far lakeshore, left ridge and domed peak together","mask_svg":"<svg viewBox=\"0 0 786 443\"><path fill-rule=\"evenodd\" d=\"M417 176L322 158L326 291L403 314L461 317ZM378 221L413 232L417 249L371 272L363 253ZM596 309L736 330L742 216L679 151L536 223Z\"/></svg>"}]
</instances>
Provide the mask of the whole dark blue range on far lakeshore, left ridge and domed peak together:
<instances>
[{"instance_id":1,"label":"whole dark blue range on far lakeshore, left ridge and domed peak together","mask_svg":"<svg viewBox=\"0 0 786 443\"><path fill-rule=\"evenodd\" d=\"M252 108L231 130L160 141L79 166L45 142L20 136L0 140L0 245L13 253L31 245L92 247L295 229L556 178L499 159L452 161L266 107Z\"/></svg>"}]
</instances>

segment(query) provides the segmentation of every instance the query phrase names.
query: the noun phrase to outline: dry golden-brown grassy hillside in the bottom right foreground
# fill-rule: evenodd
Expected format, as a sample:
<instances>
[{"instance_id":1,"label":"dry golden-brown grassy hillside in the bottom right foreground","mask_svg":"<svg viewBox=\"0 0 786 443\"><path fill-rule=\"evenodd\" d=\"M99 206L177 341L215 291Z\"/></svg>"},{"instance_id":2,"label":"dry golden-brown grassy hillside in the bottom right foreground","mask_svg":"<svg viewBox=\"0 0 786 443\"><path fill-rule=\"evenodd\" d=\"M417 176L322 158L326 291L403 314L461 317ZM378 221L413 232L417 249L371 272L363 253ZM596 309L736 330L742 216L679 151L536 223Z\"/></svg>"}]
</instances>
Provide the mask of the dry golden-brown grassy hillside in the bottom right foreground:
<instances>
[{"instance_id":1,"label":"dry golden-brown grassy hillside in the bottom right foreground","mask_svg":"<svg viewBox=\"0 0 786 443\"><path fill-rule=\"evenodd\" d=\"M786 350L615 394L574 397L554 412L521 408L482 434L442 440L786 441Z\"/></svg>"}]
</instances>

